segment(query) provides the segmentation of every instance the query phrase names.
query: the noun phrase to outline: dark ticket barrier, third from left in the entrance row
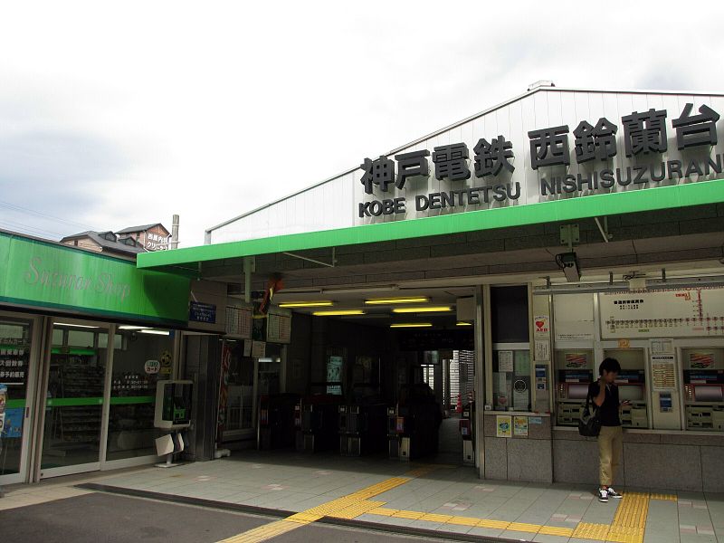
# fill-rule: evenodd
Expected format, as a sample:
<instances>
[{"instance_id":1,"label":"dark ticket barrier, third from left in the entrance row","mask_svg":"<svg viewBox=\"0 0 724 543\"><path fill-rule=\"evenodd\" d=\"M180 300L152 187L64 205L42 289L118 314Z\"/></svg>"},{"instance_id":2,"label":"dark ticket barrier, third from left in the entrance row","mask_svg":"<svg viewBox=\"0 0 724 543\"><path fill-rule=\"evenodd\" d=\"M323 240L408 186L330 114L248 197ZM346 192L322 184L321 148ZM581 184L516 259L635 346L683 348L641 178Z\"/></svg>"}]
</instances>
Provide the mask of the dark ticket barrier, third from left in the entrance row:
<instances>
[{"instance_id":1,"label":"dark ticket barrier, third from left in the entrance row","mask_svg":"<svg viewBox=\"0 0 724 543\"><path fill-rule=\"evenodd\" d=\"M387 405L378 401L339 405L339 453L361 456L384 451Z\"/></svg>"}]
</instances>

